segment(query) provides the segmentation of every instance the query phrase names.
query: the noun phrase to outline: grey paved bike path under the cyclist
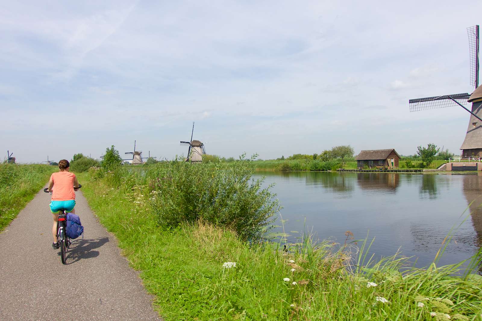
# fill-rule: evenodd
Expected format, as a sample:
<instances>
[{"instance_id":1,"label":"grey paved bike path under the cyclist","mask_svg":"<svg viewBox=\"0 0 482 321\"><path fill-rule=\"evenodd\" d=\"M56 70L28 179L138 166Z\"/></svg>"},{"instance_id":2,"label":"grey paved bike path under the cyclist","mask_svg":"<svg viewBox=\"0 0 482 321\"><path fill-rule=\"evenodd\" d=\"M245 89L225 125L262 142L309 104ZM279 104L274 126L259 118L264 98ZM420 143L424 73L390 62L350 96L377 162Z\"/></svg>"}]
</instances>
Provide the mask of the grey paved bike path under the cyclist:
<instances>
[{"instance_id":1,"label":"grey paved bike path under the cyclist","mask_svg":"<svg viewBox=\"0 0 482 321\"><path fill-rule=\"evenodd\" d=\"M52 248L50 194L40 191L0 234L0 320L161 320L114 235L76 196L85 232L67 265Z\"/></svg>"}]
</instances>

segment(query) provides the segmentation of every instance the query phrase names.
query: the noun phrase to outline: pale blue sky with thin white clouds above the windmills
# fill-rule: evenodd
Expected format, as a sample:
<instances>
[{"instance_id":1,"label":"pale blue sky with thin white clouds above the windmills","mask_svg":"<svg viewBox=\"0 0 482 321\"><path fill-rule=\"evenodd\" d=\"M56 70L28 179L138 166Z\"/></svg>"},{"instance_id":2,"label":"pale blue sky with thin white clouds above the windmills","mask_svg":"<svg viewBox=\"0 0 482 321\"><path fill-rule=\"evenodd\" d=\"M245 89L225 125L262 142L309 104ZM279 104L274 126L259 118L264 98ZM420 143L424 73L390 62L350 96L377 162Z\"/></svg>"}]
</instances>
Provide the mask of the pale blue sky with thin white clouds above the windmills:
<instances>
[{"instance_id":1,"label":"pale blue sky with thin white clouds above the windmills","mask_svg":"<svg viewBox=\"0 0 482 321\"><path fill-rule=\"evenodd\" d=\"M1 1L0 154L459 154L482 1ZM127 155L126 155L127 156Z\"/></svg>"}]
</instances>

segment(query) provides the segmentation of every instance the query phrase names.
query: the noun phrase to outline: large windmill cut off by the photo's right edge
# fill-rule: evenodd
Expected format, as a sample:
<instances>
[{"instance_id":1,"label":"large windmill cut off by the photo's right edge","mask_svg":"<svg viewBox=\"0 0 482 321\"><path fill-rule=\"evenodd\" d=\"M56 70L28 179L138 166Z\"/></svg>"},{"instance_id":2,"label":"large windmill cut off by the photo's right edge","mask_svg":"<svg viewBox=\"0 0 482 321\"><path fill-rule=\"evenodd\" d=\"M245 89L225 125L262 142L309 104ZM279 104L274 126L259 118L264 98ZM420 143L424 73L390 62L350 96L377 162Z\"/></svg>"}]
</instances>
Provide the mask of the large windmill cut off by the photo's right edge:
<instances>
[{"instance_id":1,"label":"large windmill cut off by the photo's right edge","mask_svg":"<svg viewBox=\"0 0 482 321\"><path fill-rule=\"evenodd\" d=\"M410 99L410 111L461 106L471 115L465 140L460 149L462 156L482 156L482 87L479 87L479 25L467 28L469 35L470 85L475 86L471 95L460 93L427 98ZM472 103L471 110L464 105Z\"/></svg>"}]
</instances>

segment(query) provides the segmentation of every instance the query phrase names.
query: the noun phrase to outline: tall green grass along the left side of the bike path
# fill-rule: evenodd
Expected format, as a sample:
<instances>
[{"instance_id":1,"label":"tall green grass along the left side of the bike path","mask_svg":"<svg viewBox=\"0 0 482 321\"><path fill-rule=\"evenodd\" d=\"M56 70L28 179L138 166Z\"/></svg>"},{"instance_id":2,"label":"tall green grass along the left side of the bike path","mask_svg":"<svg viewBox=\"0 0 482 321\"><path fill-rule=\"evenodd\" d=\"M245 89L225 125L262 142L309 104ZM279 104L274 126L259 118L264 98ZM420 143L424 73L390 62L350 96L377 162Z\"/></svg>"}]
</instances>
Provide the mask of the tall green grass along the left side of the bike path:
<instances>
[{"instance_id":1,"label":"tall green grass along the left side of the bike path","mask_svg":"<svg viewBox=\"0 0 482 321\"><path fill-rule=\"evenodd\" d=\"M47 183L58 167L50 165L0 164L0 231Z\"/></svg>"}]
</instances>

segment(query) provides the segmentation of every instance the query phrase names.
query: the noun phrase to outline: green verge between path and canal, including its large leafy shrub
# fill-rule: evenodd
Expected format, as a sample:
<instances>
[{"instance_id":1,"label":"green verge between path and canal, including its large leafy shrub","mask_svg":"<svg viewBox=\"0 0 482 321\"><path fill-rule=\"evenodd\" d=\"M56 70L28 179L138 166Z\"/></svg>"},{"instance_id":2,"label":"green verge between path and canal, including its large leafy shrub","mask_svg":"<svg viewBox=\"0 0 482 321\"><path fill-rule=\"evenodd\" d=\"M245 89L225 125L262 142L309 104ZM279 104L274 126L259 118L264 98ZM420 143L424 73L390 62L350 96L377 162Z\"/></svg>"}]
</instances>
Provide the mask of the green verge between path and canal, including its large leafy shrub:
<instances>
[{"instance_id":1,"label":"green verge between path and canal, including its large leafy shrub","mask_svg":"<svg viewBox=\"0 0 482 321\"><path fill-rule=\"evenodd\" d=\"M349 231L342 244L308 233L298 244L266 240L260 219L277 217L275 195L250 180L254 162L235 163L78 175L165 320L482 321L481 253L439 266L442 244L416 269L396 253L369 257L371 241Z\"/></svg>"}]
</instances>

